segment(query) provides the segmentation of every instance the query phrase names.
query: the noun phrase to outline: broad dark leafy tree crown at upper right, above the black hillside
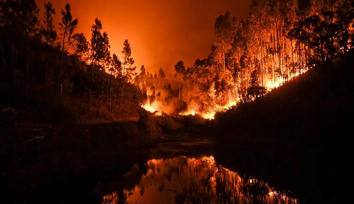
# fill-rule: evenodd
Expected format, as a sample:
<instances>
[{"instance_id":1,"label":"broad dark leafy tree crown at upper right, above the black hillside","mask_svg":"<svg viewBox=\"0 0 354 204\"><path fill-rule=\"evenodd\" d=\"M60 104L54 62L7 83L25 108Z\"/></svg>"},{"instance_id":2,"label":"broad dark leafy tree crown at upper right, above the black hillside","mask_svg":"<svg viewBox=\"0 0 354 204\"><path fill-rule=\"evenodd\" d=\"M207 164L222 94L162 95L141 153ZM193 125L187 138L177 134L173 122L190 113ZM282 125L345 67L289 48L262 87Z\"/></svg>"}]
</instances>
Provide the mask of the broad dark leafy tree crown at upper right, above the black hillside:
<instances>
[{"instance_id":1,"label":"broad dark leafy tree crown at upper right, above the black hillside","mask_svg":"<svg viewBox=\"0 0 354 204\"><path fill-rule=\"evenodd\" d=\"M342 20L341 20L342 19ZM350 46L353 35L349 33L349 22L354 19L353 10L343 14L337 12L321 12L299 21L299 26L288 33L291 39L304 43L314 52L309 54L315 61L333 60L339 53L344 53Z\"/></svg>"}]
</instances>

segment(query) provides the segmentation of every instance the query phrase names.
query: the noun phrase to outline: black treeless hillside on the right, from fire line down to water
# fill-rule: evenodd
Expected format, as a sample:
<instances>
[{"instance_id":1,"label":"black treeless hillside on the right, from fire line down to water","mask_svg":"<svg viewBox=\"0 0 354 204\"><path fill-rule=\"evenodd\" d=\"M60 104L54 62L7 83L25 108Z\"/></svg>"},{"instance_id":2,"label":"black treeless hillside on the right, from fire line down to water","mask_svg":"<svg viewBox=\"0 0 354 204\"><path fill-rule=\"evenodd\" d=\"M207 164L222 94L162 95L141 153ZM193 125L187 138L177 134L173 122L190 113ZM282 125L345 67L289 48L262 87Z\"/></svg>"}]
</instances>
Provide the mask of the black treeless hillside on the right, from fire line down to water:
<instances>
[{"instance_id":1,"label":"black treeless hillside on the right, from fire line down to water","mask_svg":"<svg viewBox=\"0 0 354 204\"><path fill-rule=\"evenodd\" d=\"M215 158L291 190L308 203L337 203L348 168L352 53L264 97L216 115ZM218 151L222 150L222 151Z\"/></svg>"}]
</instances>

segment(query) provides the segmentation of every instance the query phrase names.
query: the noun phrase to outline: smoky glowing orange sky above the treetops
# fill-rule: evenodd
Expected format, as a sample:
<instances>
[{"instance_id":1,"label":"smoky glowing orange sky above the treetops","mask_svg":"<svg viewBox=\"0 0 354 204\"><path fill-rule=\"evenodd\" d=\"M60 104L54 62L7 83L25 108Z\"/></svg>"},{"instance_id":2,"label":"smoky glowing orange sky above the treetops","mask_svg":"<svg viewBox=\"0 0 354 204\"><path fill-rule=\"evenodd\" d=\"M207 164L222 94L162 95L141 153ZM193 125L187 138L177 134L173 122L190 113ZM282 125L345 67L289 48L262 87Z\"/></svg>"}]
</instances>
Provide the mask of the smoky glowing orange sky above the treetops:
<instances>
[{"instance_id":1,"label":"smoky glowing orange sky above the treetops","mask_svg":"<svg viewBox=\"0 0 354 204\"><path fill-rule=\"evenodd\" d=\"M42 19L44 2L37 0ZM185 67L210 54L215 19L230 11L236 20L246 19L251 0L53 0L57 14L69 2L72 15L78 18L76 33L84 33L90 41L91 25L96 17L102 22L111 45L110 53L121 56L123 42L129 39L137 72L144 65L148 72L165 71L174 80L173 66L179 60Z\"/></svg>"}]
</instances>

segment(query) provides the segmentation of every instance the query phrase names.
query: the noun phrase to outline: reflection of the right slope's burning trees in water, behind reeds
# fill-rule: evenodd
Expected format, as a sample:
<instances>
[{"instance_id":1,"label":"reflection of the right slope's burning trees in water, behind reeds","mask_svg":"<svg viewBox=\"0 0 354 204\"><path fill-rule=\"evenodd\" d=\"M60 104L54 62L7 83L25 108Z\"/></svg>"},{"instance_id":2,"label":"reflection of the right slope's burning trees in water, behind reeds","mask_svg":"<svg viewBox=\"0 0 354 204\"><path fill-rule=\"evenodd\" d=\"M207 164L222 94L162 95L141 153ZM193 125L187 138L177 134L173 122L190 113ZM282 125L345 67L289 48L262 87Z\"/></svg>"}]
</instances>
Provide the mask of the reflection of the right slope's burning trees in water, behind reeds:
<instances>
[{"instance_id":1,"label":"reflection of the right slope's burning trees in water, behind reeds","mask_svg":"<svg viewBox=\"0 0 354 204\"><path fill-rule=\"evenodd\" d=\"M187 194L184 196L187 203L297 203L265 182L241 177L216 164L213 157L189 159L188 169L185 176L189 176L191 182L186 183L189 186L185 186L183 192L183 196Z\"/></svg>"}]
</instances>

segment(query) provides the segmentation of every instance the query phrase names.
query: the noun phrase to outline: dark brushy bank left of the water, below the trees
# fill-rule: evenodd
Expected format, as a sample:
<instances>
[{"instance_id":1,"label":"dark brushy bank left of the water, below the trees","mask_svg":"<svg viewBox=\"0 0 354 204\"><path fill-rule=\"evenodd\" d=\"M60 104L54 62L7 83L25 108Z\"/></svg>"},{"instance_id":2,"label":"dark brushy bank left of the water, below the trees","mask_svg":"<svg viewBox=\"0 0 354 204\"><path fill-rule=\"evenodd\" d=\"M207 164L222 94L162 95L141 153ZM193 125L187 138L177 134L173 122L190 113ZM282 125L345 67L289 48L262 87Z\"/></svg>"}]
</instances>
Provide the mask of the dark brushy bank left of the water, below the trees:
<instances>
[{"instance_id":1,"label":"dark brushy bank left of the water, below the trees","mask_svg":"<svg viewBox=\"0 0 354 204\"><path fill-rule=\"evenodd\" d=\"M2 112L1 194L30 203L39 194L57 197L95 186L98 180L123 176L137 162L144 164L157 144L186 140L174 134L204 125L198 117L141 111L137 121L72 125L50 124L16 108Z\"/></svg>"}]
</instances>

